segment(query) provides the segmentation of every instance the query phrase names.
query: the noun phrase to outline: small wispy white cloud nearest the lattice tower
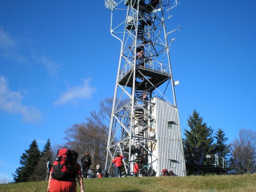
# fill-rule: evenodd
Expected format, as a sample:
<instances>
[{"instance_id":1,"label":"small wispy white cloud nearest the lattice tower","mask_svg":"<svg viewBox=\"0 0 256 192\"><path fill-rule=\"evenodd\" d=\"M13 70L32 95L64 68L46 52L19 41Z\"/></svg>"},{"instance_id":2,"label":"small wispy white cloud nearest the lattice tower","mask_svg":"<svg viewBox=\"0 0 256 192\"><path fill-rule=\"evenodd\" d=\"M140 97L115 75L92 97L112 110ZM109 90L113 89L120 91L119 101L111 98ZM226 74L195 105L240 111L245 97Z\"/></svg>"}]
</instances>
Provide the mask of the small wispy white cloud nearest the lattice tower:
<instances>
[{"instance_id":1,"label":"small wispy white cloud nearest the lattice tower","mask_svg":"<svg viewBox=\"0 0 256 192\"><path fill-rule=\"evenodd\" d=\"M62 93L60 98L54 102L55 105L63 105L67 102L76 103L80 99L89 99L92 97L92 94L96 91L95 87L92 87L90 84L90 79L87 78L84 80L82 86L75 86L69 88L66 92Z\"/></svg>"}]
</instances>

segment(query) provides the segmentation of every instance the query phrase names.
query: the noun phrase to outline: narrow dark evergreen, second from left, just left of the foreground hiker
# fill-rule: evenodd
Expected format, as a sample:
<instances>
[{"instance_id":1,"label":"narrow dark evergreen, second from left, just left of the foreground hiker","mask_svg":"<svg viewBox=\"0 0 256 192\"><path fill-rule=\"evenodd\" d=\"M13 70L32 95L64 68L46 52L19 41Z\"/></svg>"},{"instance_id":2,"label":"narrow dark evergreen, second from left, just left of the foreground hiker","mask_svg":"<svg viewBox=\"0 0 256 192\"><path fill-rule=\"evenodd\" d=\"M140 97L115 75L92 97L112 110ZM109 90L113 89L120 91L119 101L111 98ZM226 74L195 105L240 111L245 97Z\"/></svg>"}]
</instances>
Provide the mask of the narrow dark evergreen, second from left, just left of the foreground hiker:
<instances>
[{"instance_id":1,"label":"narrow dark evergreen, second from left, just left of the foreground hiker","mask_svg":"<svg viewBox=\"0 0 256 192\"><path fill-rule=\"evenodd\" d=\"M47 162L53 163L53 152L51 148L50 139L47 140L46 144L41 153L41 158L38 161L38 165L35 168L34 173L30 176L32 181L44 181L47 173Z\"/></svg>"}]
</instances>

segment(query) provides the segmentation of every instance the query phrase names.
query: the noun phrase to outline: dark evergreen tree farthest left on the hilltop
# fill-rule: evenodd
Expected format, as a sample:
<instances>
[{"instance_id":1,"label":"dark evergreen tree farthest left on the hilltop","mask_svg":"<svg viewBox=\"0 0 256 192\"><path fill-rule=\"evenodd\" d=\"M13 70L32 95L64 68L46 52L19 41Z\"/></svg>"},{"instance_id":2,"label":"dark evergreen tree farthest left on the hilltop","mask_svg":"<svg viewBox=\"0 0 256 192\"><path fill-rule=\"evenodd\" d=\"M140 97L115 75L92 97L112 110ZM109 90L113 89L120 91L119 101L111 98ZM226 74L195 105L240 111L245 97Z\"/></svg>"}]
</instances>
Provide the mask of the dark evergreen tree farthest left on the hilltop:
<instances>
[{"instance_id":1,"label":"dark evergreen tree farthest left on the hilltop","mask_svg":"<svg viewBox=\"0 0 256 192\"><path fill-rule=\"evenodd\" d=\"M33 140L28 150L20 157L20 167L16 169L14 176L14 182L27 182L33 174L38 160L40 159L40 151L36 140Z\"/></svg>"}]
</instances>

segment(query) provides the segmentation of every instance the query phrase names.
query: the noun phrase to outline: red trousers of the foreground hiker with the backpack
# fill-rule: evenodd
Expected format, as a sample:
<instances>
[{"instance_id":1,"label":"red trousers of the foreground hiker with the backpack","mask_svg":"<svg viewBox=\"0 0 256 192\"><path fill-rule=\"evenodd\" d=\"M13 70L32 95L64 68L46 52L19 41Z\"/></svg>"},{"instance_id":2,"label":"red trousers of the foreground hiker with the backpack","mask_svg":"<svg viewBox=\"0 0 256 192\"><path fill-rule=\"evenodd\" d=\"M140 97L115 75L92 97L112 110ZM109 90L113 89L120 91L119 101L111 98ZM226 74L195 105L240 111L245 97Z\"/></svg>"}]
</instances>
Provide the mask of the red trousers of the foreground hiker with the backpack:
<instances>
[{"instance_id":1,"label":"red trousers of the foreground hiker with the backpack","mask_svg":"<svg viewBox=\"0 0 256 192\"><path fill-rule=\"evenodd\" d=\"M50 192L76 192L76 181L51 180Z\"/></svg>"}]
</instances>

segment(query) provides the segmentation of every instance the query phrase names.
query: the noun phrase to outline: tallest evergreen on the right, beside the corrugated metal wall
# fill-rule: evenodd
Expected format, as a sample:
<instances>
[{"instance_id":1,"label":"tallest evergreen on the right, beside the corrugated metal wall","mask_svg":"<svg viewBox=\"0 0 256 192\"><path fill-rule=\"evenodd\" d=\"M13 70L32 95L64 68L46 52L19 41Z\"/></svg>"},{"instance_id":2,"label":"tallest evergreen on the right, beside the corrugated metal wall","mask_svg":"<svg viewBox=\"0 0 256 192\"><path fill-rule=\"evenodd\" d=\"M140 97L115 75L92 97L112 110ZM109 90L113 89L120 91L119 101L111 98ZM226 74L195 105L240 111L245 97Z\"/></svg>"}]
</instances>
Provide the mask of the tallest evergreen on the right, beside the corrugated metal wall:
<instances>
[{"instance_id":1,"label":"tallest evergreen on the right, beside the corrugated metal wall","mask_svg":"<svg viewBox=\"0 0 256 192\"><path fill-rule=\"evenodd\" d=\"M202 150L206 152L206 154L211 154L213 149L213 129L208 127L206 123L203 123L203 118L199 116L200 114L194 110L192 116L188 118L188 126L190 130L185 129L185 139L184 141L184 153L185 158L188 159L192 156L191 152L194 151L194 147L199 147L202 142L204 142L204 146Z\"/></svg>"}]
</instances>

